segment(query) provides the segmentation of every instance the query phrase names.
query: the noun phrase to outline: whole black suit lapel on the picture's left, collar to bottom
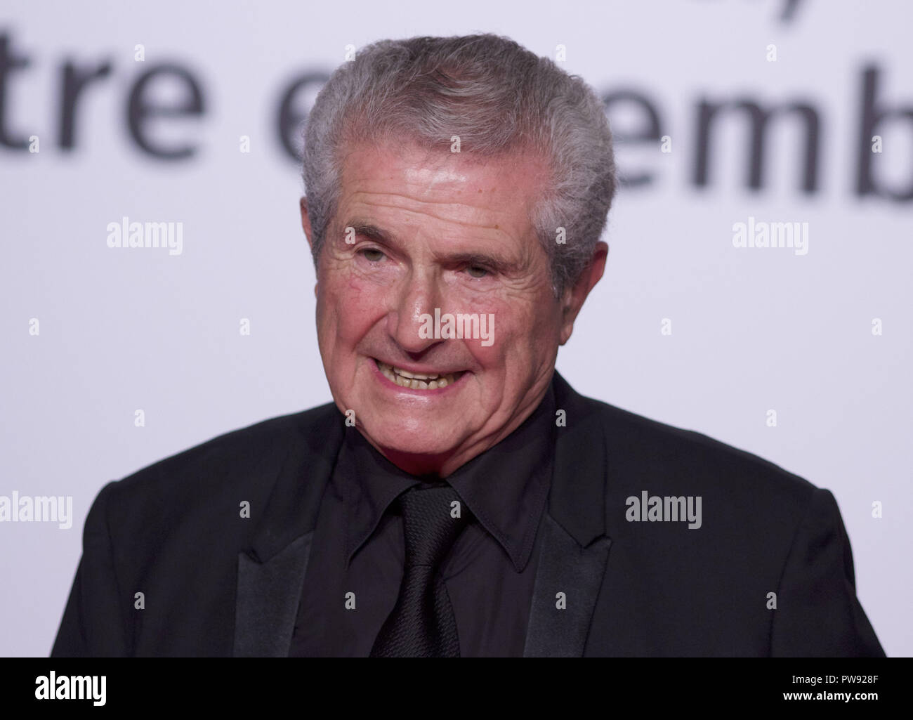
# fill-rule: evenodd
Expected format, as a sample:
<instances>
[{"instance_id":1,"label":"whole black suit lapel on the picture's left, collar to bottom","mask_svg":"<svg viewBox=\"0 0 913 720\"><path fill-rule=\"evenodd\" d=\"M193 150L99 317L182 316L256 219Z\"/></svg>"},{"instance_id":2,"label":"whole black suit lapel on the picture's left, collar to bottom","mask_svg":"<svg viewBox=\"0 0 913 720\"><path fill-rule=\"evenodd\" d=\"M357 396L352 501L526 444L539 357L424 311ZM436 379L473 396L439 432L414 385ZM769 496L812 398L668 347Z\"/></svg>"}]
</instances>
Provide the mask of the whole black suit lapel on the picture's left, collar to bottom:
<instances>
[{"instance_id":1,"label":"whole black suit lapel on the picture's left, collar to bottom","mask_svg":"<svg viewBox=\"0 0 913 720\"><path fill-rule=\"evenodd\" d=\"M289 655L320 499L343 432L334 405L307 417L310 422L289 439L289 454L257 529L237 558L236 657Z\"/></svg>"}]
</instances>

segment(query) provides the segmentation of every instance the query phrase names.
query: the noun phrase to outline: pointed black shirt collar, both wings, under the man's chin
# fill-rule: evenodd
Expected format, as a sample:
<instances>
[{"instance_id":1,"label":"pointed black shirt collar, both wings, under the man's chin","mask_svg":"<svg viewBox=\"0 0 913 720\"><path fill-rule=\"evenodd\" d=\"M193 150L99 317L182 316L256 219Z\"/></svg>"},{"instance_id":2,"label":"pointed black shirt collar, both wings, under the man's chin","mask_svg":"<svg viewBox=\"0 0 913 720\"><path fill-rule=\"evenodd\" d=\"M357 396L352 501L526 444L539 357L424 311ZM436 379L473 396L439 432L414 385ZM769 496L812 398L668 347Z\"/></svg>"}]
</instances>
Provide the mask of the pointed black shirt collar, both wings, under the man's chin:
<instances>
[{"instance_id":1,"label":"pointed black shirt collar, both wings, under the man's chin","mask_svg":"<svg viewBox=\"0 0 913 720\"><path fill-rule=\"evenodd\" d=\"M550 383L529 418L497 445L459 467L445 480L469 511L510 556L517 572L530 560L551 485L555 395ZM371 536L391 503L427 477L410 475L374 449L362 433L347 428L337 472L349 515L346 563Z\"/></svg>"}]
</instances>

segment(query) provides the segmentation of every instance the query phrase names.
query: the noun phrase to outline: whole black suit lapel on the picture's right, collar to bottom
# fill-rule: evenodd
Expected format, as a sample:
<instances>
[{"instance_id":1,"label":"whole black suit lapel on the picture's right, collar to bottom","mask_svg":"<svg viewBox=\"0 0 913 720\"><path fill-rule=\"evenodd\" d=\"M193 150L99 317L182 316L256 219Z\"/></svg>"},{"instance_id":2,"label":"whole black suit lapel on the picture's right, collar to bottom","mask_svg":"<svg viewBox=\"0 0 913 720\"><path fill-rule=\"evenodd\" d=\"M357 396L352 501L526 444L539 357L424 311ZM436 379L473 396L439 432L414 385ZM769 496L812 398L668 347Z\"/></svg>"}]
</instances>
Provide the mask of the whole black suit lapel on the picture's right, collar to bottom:
<instances>
[{"instance_id":1,"label":"whole black suit lapel on the picture's right, collar to bottom","mask_svg":"<svg viewBox=\"0 0 913 720\"><path fill-rule=\"evenodd\" d=\"M536 540L539 564L524 657L583 654L612 545L605 535L602 422L597 408L557 372L554 382L567 425L557 429L549 505Z\"/></svg>"}]
</instances>

